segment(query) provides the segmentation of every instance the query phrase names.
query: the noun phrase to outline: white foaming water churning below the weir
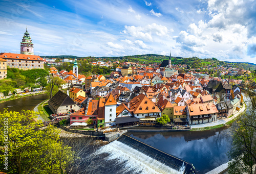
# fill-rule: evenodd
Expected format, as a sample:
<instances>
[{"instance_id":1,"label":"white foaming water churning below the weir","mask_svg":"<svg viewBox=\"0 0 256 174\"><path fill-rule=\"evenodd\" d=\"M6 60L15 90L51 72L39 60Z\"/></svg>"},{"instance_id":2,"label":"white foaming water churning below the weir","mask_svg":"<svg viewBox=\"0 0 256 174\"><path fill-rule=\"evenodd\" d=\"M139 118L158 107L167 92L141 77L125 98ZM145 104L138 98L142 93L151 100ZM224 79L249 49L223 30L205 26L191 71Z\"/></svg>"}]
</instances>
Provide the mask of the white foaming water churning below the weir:
<instances>
[{"instance_id":1,"label":"white foaming water churning below the weir","mask_svg":"<svg viewBox=\"0 0 256 174\"><path fill-rule=\"evenodd\" d=\"M145 154L135 150L134 148L119 142L113 141L107 145L102 146L95 153L103 154L108 153L108 160L117 159L121 163L125 163L125 168L134 170L135 172L149 173L173 173L182 174L184 173L184 163L179 171L170 168L163 163L146 156Z\"/></svg>"}]
</instances>

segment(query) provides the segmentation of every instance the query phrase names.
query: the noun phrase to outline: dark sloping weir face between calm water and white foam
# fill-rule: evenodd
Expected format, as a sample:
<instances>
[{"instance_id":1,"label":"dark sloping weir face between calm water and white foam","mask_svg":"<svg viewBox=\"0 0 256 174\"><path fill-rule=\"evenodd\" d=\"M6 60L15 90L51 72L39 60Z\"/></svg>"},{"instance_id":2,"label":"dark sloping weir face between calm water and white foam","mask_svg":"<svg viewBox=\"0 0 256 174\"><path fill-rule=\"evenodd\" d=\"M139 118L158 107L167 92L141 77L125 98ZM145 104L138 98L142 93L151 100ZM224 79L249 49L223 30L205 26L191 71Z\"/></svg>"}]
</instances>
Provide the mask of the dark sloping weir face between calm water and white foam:
<instances>
[{"instance_id":1,"label":"dark sloping weir face between calm water and white foam","mask_svg":"<svg viewBox=\"0 0 256 174\"><path fill-rule=\"evenodd\" d=\"M139 151L140 153L145 154L146 156L159 161L160 163L176 170L181 171L183 170L183 174L189 173L197 173L193 166L179 158L176 158L172 155L166 154L162 151L157 150L156 148L147 145L141 141L138 141L132 137L127 135L122 135L117 139L117 141L128 145L135 150ZM185 169L184 169L185 168Z\"/></svg>"}]
</instances>

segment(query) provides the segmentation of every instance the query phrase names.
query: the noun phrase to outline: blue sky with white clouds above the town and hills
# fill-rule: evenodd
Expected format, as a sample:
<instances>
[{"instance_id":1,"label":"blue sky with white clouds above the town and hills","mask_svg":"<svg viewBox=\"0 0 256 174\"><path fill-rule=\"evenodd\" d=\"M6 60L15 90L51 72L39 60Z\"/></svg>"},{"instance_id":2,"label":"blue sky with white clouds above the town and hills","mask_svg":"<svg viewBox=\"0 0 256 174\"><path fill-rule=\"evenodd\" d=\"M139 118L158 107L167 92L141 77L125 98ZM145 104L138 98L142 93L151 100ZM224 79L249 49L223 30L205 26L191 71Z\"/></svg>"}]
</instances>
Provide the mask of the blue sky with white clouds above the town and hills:
<instances>
[{"instance_id":1,"label":"blue sky with white clouds above the town and hills","mask_svg":"<svg viewBox=\"0 0 256 174\"><path fill-rule=\"evenodd\" d=\"M254 0L0 1L0 51L39 56L160 54L256 63Z\"/></svg>"}]
</instances>

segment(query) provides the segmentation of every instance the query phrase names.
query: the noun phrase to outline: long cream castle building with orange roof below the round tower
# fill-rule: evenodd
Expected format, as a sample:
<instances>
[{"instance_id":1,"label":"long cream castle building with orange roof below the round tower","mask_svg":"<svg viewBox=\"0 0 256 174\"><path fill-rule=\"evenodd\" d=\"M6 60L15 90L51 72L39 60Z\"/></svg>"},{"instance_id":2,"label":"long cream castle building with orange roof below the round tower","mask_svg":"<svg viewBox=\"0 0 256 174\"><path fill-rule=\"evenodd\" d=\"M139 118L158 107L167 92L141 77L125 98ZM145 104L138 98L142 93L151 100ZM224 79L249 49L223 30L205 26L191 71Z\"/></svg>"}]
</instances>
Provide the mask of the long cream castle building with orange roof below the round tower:
<instances>
[{"instance_id":1,"label":"long cream castle building with orange roof below the round tower","mask_svg":"<svg viewBox=\"0 0 256 174\"><path fill-rule=\"evenodd\" d=\"M44 59L40 56L13 53L1 53L0 58L7 60L10 68L19 69L44 69Z\"/></svg>"}]
</instances>

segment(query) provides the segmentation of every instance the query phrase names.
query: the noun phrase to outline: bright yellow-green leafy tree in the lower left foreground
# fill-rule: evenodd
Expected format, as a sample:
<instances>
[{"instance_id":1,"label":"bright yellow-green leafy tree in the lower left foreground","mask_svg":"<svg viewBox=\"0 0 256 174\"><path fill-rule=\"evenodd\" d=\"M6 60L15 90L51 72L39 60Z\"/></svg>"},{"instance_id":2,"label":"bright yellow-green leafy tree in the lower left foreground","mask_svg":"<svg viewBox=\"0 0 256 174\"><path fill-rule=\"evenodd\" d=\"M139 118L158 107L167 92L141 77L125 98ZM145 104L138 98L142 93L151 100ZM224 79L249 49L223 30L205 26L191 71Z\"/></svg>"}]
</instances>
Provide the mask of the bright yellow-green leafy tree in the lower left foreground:
<instances>
[{"instance_id":1,"label":"bright yellow-green leafy tree in the lower left foreground","mask_svg":"<svg viewBox=\"0 0 256 174\"><path fill-rule=\"evenodd\" d=\"M72 163L74 152L71 147L59 140L59 131L48 126L45 130L36 130L41 121L36 112L0 113L1 147L8 147L8 156L1 148L0 170L8 173L64 173ZM4 169L4 160L8 157L8 170Z\"/></svg>"}]
</instances>

